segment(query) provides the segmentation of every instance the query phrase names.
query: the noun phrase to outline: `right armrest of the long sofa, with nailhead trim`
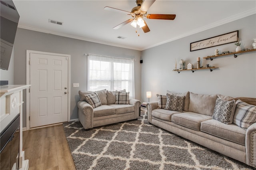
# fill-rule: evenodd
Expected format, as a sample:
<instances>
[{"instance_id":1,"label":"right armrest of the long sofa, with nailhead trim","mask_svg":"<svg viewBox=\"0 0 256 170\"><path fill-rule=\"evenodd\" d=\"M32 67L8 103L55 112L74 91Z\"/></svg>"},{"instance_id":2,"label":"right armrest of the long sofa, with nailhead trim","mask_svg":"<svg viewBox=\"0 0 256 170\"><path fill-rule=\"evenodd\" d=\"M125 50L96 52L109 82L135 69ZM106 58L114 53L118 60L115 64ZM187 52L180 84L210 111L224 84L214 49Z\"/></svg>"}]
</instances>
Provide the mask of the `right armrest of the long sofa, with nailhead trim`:
<instances>
[{"instance_id":1,"label":"right armrest of the long sofa, with nailhead trim","mask_svg":"<svg viewBox=\"0 0 256 170\"><path fill-rule=\"evenodd\" d=\"M245 134L246 164L256 167L256 123Z\"/></svg>"}]
</instances>

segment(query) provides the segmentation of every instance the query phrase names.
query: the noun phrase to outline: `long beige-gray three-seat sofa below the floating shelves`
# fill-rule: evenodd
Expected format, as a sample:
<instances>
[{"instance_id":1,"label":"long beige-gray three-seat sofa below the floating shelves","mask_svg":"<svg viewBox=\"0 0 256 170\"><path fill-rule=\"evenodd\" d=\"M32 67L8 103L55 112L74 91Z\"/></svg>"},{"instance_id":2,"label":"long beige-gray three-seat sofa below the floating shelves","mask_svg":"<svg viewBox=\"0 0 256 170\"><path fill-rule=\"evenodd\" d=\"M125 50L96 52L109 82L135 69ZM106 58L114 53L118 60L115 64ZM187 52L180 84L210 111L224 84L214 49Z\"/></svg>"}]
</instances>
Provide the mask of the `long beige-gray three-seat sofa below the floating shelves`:
<instances>
[{"instance_id":1,"label":"long beige-gray three-seat sofa below the floating shelves","mask_svg":"<svg viewBox=\"0 0 256 170\"><path fill-rule=\"evenodd\" d=\"M167 91L167 93L172 96L185 96L182 111L163 109L166 107L164 106L166 101L159 95L158 101L146 105L148 121L151 124L256 167L256 123L252 123L247 129L236 125L239 111L236 107L238 107L237 102L240 101L238 99L256 105L256 98L234 98L235 106L233 109L235 111L233 110L232 113L234 118L233 116L230 118L230 121L233 122L224 124L213 119L213 114L216 113L217 109L216 100L221 98L224 101L232 101L232 97L200 95L191 92L173 93ZM253 113L256 114L256 107L250 108L254 109Z\"/></svg>"}]
</instances>

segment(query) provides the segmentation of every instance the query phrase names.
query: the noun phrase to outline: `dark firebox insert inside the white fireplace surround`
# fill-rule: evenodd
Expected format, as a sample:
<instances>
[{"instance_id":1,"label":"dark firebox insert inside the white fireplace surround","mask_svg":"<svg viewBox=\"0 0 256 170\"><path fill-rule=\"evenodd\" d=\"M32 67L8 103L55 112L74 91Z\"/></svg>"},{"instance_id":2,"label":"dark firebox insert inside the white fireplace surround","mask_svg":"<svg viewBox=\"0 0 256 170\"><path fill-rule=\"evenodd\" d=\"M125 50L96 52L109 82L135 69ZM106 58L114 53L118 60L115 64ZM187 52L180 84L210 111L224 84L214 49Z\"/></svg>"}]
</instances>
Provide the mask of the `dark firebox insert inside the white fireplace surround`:
<instances>
[{"instance_id":1,"label":"dark firebox insert inside the white fireplace surround","mask_svg":"<svg viewBox=\"0 0 256 170\"><path fill-rule=\"evenodd\" d=\"M19 169L20 114L18 114L0 134L0 169Z\"/></svg>"}]
</instances>

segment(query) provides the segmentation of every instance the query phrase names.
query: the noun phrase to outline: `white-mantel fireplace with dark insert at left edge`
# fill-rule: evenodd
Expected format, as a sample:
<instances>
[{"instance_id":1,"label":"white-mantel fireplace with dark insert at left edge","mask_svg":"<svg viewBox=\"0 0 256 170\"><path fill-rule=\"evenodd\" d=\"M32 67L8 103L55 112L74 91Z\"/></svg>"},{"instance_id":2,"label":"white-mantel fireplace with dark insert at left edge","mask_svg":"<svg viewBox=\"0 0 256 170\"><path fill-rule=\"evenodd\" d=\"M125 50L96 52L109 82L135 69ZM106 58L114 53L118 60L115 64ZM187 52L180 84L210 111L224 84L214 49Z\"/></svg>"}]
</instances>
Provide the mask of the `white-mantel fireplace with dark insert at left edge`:
<instances>
[{"instance_id":1,"label":"white-mantel fireplace with dark insert at left edge","mask_svg":"<svg viewBox=\"0 0 256 170\"><path fill-rule=\"evenodd\" d=\"M29 161L25 160L25 151L22 150L22 104L24 103L22 100L23 90L29 87L30 85L0 86L1 170L18 168L28 170ZM19 132L17 132L18 127L20 127Z\"/></svg>"}]
</instances>

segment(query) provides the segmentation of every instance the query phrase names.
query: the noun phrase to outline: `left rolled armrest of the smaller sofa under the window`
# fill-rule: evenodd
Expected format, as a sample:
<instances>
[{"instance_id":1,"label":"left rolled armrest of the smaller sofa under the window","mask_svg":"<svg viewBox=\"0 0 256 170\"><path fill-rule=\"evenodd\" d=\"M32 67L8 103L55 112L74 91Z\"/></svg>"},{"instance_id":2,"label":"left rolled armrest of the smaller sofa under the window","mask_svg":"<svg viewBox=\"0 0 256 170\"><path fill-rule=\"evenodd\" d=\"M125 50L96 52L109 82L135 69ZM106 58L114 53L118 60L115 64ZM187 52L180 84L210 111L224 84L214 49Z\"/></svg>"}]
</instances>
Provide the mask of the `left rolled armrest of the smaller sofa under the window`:
<instances>
[{"instance_id":1,"label":"left rolled armrest of the smaller sofa under the window","mask_svg":"<svg viewBox=\"0 0 256 170\"><path fill-rule=\"evenodd\" d=\"M86 101L79 101L78 119L85 129L93 128L93 108Z\"/></svg>"}]
</instances>

